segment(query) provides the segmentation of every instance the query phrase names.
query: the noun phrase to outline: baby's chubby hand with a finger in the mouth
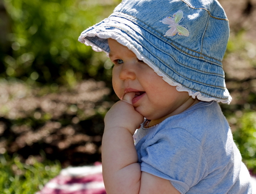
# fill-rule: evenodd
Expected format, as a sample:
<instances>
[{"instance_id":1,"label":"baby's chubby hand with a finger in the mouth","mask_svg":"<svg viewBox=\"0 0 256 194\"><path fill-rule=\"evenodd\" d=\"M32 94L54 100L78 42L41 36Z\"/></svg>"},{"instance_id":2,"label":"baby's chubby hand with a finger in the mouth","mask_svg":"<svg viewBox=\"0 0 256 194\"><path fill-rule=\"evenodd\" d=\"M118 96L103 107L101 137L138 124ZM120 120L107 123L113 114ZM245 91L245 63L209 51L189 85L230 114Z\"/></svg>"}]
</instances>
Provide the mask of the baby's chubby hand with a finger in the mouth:
<instances>
[{"instance_id":1,"label":"baby's chubby hand with a finger in the mouth","mask_svg":"<svg viewBox=\"0 0 256 194\"><path fill-rule=\"evenodd\" d=\"M144 120L144 117L133 107L134 96L135 92L127 93L122 100L110 108L105 116L105 129L126 128L134 134Z\"/></svg>"}]
</instances>

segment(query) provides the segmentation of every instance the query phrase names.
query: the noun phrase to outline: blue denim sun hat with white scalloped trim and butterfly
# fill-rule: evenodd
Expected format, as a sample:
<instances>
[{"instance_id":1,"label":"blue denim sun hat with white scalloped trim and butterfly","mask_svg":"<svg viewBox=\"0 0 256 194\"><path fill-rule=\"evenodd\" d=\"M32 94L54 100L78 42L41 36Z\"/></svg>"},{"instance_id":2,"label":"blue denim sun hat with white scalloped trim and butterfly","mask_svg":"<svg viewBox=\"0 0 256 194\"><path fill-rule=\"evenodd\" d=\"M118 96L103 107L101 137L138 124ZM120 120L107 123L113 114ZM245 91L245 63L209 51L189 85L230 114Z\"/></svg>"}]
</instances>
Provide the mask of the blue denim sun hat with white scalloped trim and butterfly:
<instances>
[{"instance_id":1,"label":"blue denim sun hat with white scalloped trim and butterfly","mask_svg":"<svg viewBox=\"0 0 256 194\"><path fill-rule=\"evenodd\" d=\"M222 60L229 22L216 0L123 0L79 41L109 53L108 38L132 50L177 91L230 103Z\"/></svg>"}]
</instances>

